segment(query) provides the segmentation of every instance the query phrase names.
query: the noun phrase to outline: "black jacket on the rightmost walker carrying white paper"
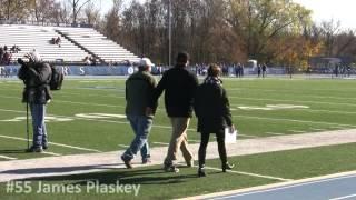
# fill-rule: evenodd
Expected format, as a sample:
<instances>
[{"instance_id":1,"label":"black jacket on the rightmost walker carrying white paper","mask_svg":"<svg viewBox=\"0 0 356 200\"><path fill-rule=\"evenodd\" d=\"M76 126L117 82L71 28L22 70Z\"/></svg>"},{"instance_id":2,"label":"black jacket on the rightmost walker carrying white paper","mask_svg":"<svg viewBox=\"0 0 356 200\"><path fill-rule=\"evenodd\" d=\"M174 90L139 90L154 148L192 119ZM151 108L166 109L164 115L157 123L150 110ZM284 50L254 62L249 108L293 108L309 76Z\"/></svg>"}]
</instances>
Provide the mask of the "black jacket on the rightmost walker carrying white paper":
<instances>
[{"instance_id":1,"label":"black jacket on the rightmost walker carrying white paper","mask_svg":"<svg viewBox=\"0 0 356 200\"><path fill-rule=\"evenodd\" d=\"M198 132L221 132L233 124L229 100L221 84L200 84L195 96L194 109L198 118Z\"/></svg>"}]
</instances>

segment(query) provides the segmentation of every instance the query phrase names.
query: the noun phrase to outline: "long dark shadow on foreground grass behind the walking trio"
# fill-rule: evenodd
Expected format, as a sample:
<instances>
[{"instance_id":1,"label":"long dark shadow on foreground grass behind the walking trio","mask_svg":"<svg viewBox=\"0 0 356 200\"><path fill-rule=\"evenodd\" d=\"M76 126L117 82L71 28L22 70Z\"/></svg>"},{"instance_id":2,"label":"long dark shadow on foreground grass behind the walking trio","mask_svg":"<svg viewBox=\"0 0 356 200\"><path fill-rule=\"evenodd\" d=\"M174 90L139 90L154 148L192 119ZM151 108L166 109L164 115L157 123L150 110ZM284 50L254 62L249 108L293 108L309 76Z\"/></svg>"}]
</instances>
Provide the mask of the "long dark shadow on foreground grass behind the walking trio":
<instances>
[{"instance_id":1,"label":"long dark shadow on foreground grass behind the walking trio","mask_svg":"<svg viewBox=\"0 0 356 200\"><path fill-rule=\"evenodd\" d=\"M172 184L182 183L191 178L197 178L194 173L171 173L165 172L161 168L151 169L119 169L105 172L93 172L83 174L71 174L60 177L43 177L26 179L31 181L59 181L70 182L70 184L87 186L88 182L97 181L99 184Z\"/></svg>"}]
</instances>

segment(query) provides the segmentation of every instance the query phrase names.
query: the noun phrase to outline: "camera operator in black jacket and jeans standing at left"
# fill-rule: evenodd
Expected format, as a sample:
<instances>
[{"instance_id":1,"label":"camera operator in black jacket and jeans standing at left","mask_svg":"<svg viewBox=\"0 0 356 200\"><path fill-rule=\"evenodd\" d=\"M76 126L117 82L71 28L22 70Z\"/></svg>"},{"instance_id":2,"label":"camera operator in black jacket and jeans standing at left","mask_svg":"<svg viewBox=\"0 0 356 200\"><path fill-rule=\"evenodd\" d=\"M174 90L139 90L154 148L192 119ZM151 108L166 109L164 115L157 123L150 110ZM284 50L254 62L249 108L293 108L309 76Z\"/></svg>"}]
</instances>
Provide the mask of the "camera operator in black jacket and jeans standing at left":
<instances>
[{"instance_id":1,"label":"camera operator in black jacket and jeans standing at left","mask_svg":"<svg viewBox=\"0 0 356 200\"><path fill-rule=\"evenodd\" d=\"M22 102L30 106L32 116L33 143L28 151L43 152L43 149L48 149L44 117L46 104L52 99L49 89L52 72L50 66L42 62L37 52L27 53L24 57L29 61L18 59L21 64L18 77L24 83Z\"/></svg>"}]
</instances>

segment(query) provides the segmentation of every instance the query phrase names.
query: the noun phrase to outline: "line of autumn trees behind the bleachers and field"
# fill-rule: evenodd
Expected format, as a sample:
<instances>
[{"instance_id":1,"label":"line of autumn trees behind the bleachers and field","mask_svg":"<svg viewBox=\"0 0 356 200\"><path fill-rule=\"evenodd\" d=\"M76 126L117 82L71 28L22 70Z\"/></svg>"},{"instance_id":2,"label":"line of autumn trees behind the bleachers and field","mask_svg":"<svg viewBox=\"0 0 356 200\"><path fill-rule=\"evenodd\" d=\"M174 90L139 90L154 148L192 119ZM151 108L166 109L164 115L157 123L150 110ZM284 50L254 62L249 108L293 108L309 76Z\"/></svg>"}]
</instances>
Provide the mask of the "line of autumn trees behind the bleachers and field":
<instances>
[{"instance_id":1,"label":"line of autumn trees behind the bleachers and field","mask_svg":"<svg viewBox=\"0 0 356 200\"><path fill-rule=\"evenodd\" d=\"M103 14L95 2L0 0L0 19L91 24L157 63L168 63L169 21L172 54L185 50L192 62L256 59L306 68L312 57L356 59L354 30L343 29L333 19L316 23L310 10L291 0L112 0Z\"/></svg>"}]
</instances>

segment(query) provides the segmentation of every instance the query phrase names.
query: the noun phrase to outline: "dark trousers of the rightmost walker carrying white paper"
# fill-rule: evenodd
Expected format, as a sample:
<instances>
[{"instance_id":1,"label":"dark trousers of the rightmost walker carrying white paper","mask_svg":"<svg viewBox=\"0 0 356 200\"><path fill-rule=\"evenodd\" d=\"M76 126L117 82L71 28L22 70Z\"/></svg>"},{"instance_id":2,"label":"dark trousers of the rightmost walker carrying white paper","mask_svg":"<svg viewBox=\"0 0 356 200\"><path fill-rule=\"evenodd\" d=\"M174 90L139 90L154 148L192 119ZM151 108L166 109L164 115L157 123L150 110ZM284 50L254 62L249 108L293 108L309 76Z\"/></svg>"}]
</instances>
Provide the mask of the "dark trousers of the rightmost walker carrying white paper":
<instances>
[{"instance_id":1,"label":"dark trousers of the rightmost walker carrying white paper","mask_svg":"<svg viewBox=\"0 0 356 200\"><path fill-rule=\"evenodd\" d=\"M218 142L218 151L220 156L221 163L227 162L227 154L226 154L226 148L225 148L225 132L215 132L216 134L216 141ZM200 147L199 147L199 167L205 166L205 157L207 153L207 147L209 142L209 133L201 132L201 140L200 140Z\"/></svg>"}]
</instances>

